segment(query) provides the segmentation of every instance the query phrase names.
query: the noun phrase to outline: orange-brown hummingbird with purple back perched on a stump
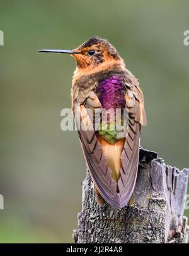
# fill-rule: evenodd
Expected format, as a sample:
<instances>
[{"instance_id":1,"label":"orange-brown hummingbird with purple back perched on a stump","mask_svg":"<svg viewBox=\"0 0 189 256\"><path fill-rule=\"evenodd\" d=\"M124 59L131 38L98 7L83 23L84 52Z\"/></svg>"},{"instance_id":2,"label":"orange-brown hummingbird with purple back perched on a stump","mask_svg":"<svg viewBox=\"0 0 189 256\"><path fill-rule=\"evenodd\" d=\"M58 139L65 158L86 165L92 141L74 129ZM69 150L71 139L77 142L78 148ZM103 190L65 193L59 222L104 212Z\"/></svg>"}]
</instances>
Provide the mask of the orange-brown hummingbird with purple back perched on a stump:
<instances>
[{"instance_id":1,"label":"orange-brown hummingbird with purple back perched on a stump","mask_svg":"<svg viewBox=\"0 0 189 256\"><path fill-rule=\"evenodd\" d=\"M93 36L73 50L39 51L70 54L76 60L71 88L72 112L75 119L79 115L87 127L78 129L78 134L96 201L100 206L108 202L122 209L134 192L140 129L147 124L138 79L125 67L115 47L100 37ZM102 118L103 110L106 110L106 119ZM117 110L120 113L115 117ZM125 110L127 124L123 122ZM97 115L91 117L91 113ZM112 125L115 119L120 119L119 125ZM123 132L124 127L127 132ZM124 135L120 136L120 132Z\"/></svg>"}]
</instances>

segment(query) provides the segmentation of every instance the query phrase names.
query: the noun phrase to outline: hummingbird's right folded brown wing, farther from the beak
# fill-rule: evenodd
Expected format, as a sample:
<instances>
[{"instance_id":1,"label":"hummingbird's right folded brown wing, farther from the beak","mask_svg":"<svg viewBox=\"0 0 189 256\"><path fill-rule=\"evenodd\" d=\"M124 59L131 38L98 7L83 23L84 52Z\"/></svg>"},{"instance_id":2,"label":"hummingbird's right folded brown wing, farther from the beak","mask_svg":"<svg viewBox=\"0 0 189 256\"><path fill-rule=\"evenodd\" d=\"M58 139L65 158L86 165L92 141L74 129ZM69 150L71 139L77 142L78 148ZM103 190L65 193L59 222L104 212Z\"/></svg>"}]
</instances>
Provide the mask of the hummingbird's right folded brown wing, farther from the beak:
<instances>
[{"instance_id":1,"label":"hummingbird's right folded brown wing, farther from the beak","mask_svg":"<svg viewBox=\"0 0 189 256\"><path fill-rule=\"evenodd\" d=\"M129 112L129 125L121 155L122 168L118 180L118 189L123 199L123 205L127 204L135 187L139 162L140 127L146 125L144 96L137 79L126 81L125 84L127 87L125 108Z\"/></svg>"}]
</instances>

